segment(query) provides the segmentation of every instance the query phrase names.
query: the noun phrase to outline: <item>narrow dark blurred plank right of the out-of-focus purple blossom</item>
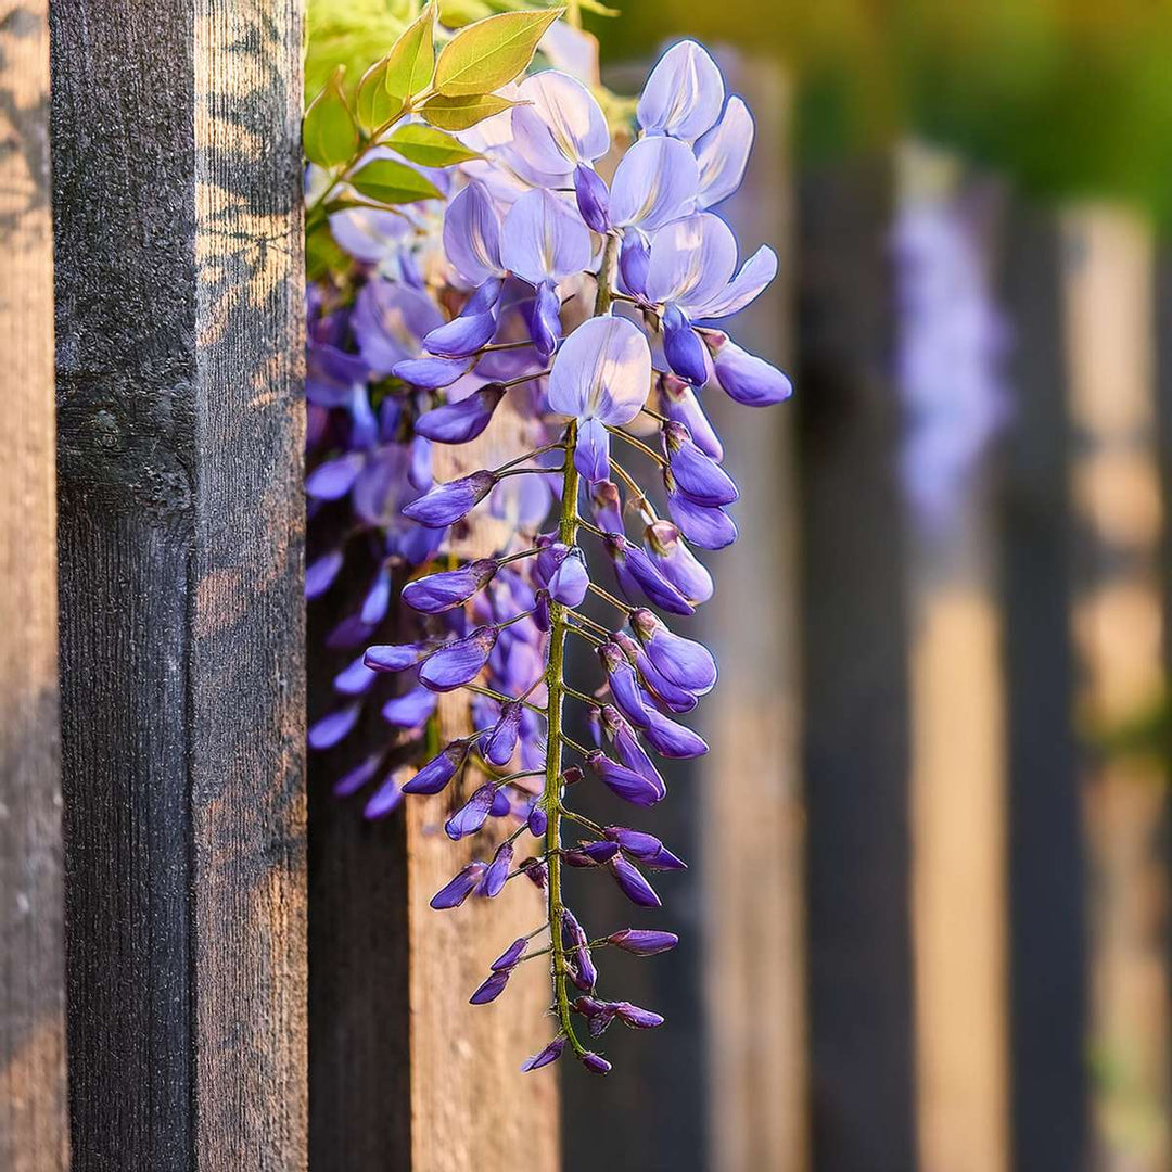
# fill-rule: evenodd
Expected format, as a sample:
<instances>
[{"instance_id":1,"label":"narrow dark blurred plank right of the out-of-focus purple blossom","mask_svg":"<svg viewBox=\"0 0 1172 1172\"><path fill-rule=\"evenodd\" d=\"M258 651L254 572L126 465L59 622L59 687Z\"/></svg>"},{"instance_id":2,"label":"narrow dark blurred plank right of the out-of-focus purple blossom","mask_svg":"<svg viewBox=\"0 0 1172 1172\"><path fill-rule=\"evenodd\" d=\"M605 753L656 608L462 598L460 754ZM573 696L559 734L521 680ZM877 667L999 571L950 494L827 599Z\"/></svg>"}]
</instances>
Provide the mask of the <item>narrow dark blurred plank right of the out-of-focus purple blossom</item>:
<instances>
[{"instance_id":1,"label":"narrow dark blurred plank right of the out-of-focus purple blossom","mask_svg":"<svg viewBox=\"0 0 1172 1172\"><path fill-rule=\"evenodd\" d=\"M1054 217L1015 200L1004 253L1003 297L1016 338L1000 538L1013 1157L1018 1168L1077 1168L1088 1137L1085 883L1070 720L1070 428Z\"/></svg>"}]
</instances>

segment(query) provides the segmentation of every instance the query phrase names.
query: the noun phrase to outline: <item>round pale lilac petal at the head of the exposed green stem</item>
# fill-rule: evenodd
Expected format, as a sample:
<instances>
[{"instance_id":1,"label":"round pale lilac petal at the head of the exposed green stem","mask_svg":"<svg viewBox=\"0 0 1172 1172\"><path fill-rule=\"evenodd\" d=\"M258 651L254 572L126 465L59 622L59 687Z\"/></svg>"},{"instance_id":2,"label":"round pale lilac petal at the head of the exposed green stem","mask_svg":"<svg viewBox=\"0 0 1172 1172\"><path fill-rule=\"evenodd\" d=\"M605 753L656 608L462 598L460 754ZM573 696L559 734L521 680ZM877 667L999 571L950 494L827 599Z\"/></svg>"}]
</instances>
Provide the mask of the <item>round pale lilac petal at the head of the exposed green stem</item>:
<instances>
[{"instance_id":1,"label":"round pale lilac petal at the head of the exposed green stem","mask_svg":"<svg viewBox=\"0 0 1172 1172\"><path fill-rule=\"evenodd\" d=\"M650 390L652 354L626 318L592 318L561 345L550 373L550 409L612 425L629 423Z\"/></svg>"}]
</instances>

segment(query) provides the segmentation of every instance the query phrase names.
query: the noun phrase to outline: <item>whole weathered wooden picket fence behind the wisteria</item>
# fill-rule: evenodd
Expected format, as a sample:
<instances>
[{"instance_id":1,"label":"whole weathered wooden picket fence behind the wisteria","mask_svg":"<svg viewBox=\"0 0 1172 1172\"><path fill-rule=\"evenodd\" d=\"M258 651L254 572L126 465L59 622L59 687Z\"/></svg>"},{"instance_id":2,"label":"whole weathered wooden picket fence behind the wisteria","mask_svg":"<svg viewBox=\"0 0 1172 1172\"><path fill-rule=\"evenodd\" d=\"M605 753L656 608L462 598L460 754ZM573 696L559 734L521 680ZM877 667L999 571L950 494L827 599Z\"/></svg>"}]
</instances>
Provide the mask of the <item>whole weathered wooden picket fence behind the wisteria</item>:
<instances>
[{"instance_id":1,"label":"whole weathered wooden picket fence behind the wisteria","mask_svg":"<svg viewBox=\"0 0 1172 1172\"><path fill-rule=\"evenodd\" d=\"M731 214L783 253L743 336L799 396L721 413L745 539L660 824L686 943L624 970L670 1023L559 1108L517 1074L541 982L465 1006L522 912L440 922L434 811L363 824L305 764L300 54L297 0L0 0L0 1167L1166 1167L1166 764L1095 740L1168 662L1151 231L1001 190L1011 414L927 537L922 163L793 177L742 67Z\"/></svg>"}]
</instances>

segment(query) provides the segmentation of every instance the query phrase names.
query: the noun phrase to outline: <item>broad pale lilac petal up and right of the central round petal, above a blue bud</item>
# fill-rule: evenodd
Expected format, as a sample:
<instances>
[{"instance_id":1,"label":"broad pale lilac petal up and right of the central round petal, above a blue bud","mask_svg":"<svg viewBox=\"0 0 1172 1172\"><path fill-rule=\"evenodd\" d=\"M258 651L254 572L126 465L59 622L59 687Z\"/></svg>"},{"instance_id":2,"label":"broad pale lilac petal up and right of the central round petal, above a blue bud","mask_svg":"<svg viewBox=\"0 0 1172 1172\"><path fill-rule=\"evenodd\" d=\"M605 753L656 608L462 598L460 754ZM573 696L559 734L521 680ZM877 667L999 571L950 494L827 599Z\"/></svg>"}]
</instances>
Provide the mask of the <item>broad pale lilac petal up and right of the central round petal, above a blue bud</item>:
<instances>
[{"instance_id":1,"label":"broad pale lilac petal up and right of the central round petal, above a blue bud","mask_svg":"<svg viewBox=\"0 0 1172 1172\"><path fill-rule=\"evenodd\" d=\"M696 306L722 294L736 268L736 237L718 216L700 212L673 220L652 238L647 297L674 301L693 318Z\"/></svg>"}]
</instances>

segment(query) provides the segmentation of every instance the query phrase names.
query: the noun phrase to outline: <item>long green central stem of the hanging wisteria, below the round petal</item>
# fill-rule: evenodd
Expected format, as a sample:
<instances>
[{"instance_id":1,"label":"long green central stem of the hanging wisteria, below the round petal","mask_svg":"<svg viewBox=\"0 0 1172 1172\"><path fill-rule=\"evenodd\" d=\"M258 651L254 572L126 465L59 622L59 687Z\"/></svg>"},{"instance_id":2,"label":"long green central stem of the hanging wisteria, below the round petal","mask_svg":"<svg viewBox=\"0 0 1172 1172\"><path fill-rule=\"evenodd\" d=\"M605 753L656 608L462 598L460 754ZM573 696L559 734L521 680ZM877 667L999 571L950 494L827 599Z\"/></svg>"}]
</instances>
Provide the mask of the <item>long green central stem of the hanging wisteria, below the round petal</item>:
<instances>
[{"instance_id":1,"label":"long green central stem of the hanging wisteria, below the round petal","mask_svg":"<svg viewBox=\"0 0 1172 1172\"><path fill-rule=\"evenodd\" d=\"M607 245L609 247L609 244ZM578 470L574 468L574 447L578 442L578 425L566 428L566 465L561 484L561 520L558 538L565 545L575 543L578 532ZM547 898L550 913L550 941L553 953L553 1000L558 1022L575 1054L585 1054L586 1048L574 1034L570 1020L570 995L566 989L566 953L561 939L561 708L565 700L566 608L560 602L550 604L550 659L546 667L545 686L548 691L546 722L548 724L545 754L545 792L543 802L548 817L545 827L545 853L547 857Z\"/></svg>"}]
</instances>

